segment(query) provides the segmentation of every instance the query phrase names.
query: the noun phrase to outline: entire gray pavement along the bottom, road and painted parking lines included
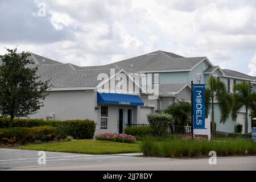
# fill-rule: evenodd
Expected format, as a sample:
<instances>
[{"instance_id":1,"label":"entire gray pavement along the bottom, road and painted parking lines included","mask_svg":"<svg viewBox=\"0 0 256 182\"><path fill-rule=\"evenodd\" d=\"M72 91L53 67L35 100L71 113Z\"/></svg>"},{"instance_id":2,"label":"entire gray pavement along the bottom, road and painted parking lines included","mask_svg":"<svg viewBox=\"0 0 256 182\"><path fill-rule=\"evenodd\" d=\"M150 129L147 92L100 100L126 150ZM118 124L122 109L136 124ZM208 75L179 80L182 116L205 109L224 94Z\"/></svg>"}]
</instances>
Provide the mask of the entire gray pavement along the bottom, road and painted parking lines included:
<instances>
[{"instance_id":1,"label":"entire gray pavement along the bottom, road and painted parking lines included","mask_svg":"<svg viewBox=\"0 0 256 182\"><path fill-rule=\"evenodd\" d=\"M38 151L0 148L0 170L256 170L256 156L170 159L126 155L86 155L46 152L46 164L38 164Z\"/></svg>"}]
</instances>

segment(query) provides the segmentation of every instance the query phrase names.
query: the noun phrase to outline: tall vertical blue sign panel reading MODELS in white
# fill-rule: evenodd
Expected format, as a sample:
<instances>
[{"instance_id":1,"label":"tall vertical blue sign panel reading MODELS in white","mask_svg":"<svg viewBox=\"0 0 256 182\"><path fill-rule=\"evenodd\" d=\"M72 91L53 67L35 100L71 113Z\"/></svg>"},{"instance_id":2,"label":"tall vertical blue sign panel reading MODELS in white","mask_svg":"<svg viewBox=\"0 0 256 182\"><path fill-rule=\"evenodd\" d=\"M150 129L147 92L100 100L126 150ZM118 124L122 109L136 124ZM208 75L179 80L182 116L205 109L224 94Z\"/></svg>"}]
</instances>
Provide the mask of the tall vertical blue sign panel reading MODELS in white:
<instances>
[{"instance_id":1,"label":"tall vertical blue sign panel reading MODELS in white","mask_svg":"<svg viewBox=\"0 0 256 182\"><path fill-rule=\"evenodd\" d=\"M204 85L193 85L193 127L205 129L205 88Z\"/></svg>"}]
</instances>

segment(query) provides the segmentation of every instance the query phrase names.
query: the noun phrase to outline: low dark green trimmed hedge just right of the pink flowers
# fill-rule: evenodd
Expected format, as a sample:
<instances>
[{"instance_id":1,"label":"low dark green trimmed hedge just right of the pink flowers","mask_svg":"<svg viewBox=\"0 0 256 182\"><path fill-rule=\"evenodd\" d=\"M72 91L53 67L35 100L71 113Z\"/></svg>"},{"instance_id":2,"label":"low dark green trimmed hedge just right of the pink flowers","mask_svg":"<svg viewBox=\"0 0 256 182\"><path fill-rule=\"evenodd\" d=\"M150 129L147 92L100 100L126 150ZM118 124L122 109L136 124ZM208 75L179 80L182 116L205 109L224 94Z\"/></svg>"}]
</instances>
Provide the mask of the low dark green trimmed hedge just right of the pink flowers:
<instances>
[{"instance_id":1,"label":"low dark green trimmed hedge just right of the pink flowers","mask_svg":"<svg viewBox=\"0 0 256 182\"><path fill-rule=\"evenodd\" d=\"M152 135L153 129L150 126L126 127L124 132L125 134L133 135L138 139L144 137L145 135Z\"/></svg>"}]
</instances>

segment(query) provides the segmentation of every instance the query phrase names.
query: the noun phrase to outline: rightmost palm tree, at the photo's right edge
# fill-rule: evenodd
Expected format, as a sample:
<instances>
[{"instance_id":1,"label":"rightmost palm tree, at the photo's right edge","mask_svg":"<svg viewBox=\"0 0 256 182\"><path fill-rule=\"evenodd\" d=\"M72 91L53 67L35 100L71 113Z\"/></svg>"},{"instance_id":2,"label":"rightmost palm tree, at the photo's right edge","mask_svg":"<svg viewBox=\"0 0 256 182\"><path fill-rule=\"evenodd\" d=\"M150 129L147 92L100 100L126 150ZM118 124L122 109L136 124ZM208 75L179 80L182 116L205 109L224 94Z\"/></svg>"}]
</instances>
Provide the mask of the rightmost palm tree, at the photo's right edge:
<instances>
[{"instance_id":1,"label":"rightmost palm tree, at the photo's right edge","mask_svg":"<svg viewBox=\"0 0 256 182\"><path fill-rule=\"evenodd\" d=\"M256 110L256 93L251 92L251 85L247 81L234 85L234 102L232 119L236 121L237 113L245 107L245 133L248 133L248 110Z\"/></svg>"}]
</instances>

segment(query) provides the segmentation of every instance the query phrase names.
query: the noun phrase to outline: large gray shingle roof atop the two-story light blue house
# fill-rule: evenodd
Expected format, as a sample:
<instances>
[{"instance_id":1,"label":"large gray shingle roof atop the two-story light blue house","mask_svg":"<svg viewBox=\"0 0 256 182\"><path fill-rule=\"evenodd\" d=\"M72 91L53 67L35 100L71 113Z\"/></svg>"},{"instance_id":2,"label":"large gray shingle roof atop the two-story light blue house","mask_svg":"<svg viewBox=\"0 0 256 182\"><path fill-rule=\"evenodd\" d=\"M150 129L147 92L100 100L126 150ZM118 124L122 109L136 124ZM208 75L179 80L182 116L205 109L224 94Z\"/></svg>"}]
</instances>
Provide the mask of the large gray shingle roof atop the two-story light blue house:
<instances>
[{"instance_id":1,"label":"large gray shingle roof atop the two-story light blue house","mask_svg":"<svg viewBox=\"0 0 256 182\"><path fill-rule=\"evenodd\" d=\"M135 72L178 72L191 71L204 60L212 65L207 57L183 57L171 52L155 51L109 65L117 65Z\"/></svg>"}]
</instances>

